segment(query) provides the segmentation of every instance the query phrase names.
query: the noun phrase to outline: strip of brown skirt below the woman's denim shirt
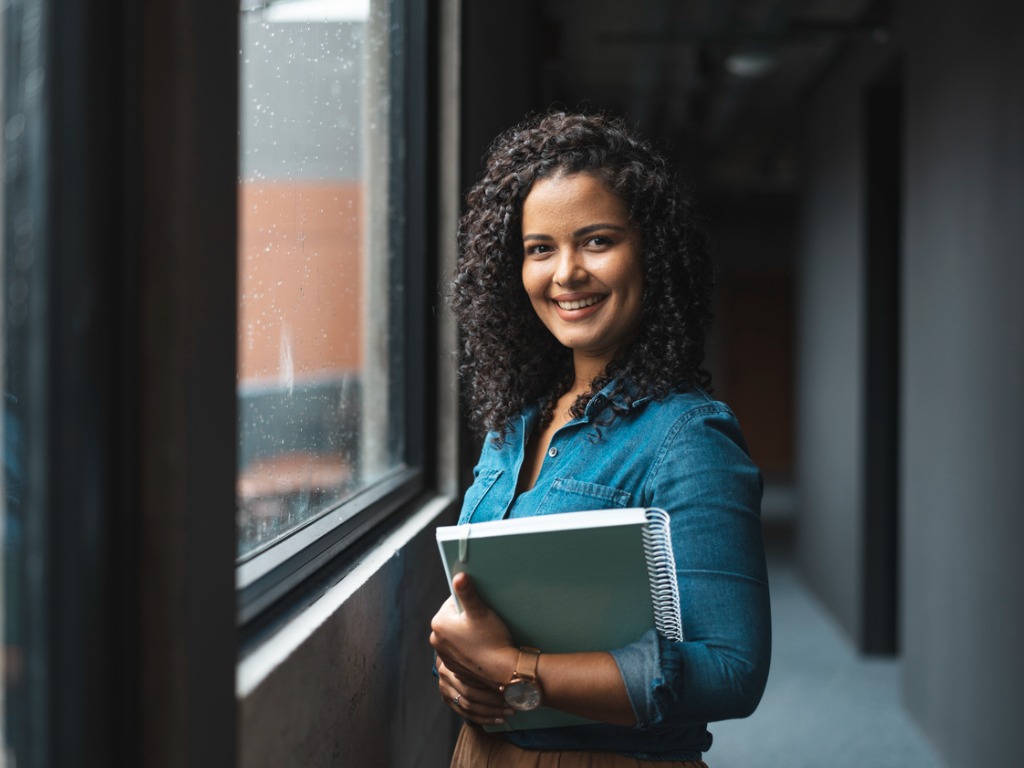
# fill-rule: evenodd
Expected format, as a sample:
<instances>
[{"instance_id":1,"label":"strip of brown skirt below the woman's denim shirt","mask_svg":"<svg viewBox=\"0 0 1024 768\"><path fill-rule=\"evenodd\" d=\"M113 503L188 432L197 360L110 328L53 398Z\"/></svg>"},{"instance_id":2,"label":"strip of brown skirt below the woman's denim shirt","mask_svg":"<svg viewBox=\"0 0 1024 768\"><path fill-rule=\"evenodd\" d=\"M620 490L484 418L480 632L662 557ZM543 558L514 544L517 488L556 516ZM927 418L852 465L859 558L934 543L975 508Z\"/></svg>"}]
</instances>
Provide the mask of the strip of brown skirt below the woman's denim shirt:
<instances>
[{"instance_id":1,"label":"strip of brown skirt below the woman's denim shirt","mask_svg":"<svg viewBox=\"0 0 1024 768\"><path fill-rule=\"evenodd\" d=\"M637 760L612 752L523 750L500 734L464 724L452 768L708 768L701 760L669 763Z\"/></svg>"}]
</instances>

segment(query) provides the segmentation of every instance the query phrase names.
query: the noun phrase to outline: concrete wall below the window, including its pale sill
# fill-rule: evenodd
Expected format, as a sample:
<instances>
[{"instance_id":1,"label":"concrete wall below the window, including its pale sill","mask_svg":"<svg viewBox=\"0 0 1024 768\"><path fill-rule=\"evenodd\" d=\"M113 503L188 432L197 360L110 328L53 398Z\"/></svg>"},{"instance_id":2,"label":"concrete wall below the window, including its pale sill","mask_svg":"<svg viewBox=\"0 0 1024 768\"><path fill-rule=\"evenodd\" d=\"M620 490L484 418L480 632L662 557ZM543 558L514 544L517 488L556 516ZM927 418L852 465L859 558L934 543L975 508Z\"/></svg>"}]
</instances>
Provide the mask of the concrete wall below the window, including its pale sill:
<instances>
[{"instance_id":1,"label":"concrete wall below the window, including its pale sill","mask_svg":"<svg viewBox=\"0 0 1024 768\"><path fill-rule=\"evenodd\" d=\"M239 765L434 768L458 723L430 674L447 596L428 506L239 668Z\"/></svg>"}]
</instances>

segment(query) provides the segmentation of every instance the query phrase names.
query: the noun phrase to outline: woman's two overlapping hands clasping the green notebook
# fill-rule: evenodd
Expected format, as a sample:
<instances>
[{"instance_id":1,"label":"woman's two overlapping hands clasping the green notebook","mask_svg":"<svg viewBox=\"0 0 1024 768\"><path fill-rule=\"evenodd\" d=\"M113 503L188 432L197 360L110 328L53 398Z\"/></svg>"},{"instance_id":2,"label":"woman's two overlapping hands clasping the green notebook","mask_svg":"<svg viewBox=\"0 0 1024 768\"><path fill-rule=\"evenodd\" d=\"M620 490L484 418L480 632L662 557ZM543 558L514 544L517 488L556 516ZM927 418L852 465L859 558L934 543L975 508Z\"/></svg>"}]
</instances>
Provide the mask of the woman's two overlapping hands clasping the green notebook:
<instances>
[{"instance_id":1,"label":"woman's two overlapping hands clasping the green notebook","mask_svg":"<svg viewBox=\"0 0 1024 768\"><path fill-rule=\"evenodd\" d=\"M430 623L438 688L449 706L467 720L501 723L512 710L499 687L515 671L518 650L505 623L480 600L469 577L459 573L452 584L463 611L449 598Z\"/></svg>"}]
</instances>

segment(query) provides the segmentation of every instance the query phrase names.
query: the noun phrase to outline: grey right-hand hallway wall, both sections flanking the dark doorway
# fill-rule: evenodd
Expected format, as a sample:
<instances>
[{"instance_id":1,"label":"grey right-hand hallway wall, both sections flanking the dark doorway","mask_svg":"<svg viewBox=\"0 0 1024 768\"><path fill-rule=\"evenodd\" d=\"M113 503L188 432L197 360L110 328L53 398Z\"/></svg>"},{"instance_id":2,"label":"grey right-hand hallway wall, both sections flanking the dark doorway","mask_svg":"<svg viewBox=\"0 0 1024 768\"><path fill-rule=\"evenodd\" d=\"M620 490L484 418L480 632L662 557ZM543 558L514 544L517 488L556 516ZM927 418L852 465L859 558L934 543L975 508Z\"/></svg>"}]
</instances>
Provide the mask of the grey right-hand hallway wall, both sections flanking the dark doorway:
<instances>
[{"instance_id":1,"label":"grey right-hand hallway wall, both sections flanking the dark doorway","mask_svg":"<svg viewBox=\"0 0 1024 768\"><path fill-rule=\"evenodd\" d=\"M903 695L950 765L1011 765L1024 745L1024 11L919 1L899 14ZM861 109L882 51L868 46L851 44L815 95L799 269L800 565L853 638L870 567Z\"/></svg>"}]
</instances>

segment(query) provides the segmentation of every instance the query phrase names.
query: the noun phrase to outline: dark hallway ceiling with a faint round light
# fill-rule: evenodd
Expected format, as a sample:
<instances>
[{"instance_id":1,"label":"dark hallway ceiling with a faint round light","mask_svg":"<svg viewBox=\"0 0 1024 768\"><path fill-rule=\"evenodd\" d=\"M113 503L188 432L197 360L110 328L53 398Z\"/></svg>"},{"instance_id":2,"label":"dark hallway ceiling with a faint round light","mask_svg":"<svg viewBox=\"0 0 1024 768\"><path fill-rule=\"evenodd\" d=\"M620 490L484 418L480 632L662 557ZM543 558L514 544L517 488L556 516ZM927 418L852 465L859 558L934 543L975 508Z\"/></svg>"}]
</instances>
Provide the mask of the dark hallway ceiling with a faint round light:
<instances>
[{"instance_id":1,"label":"dark hallway ceiling with a faint round light","mask_svg":"<svg viewBox=\"0 0 1024 768\"><path fill-rule=\"evenodd\" d=\"M547 103L625 114L719 190L792 189L796 120L892 0L545 0Z\"/></svg>"}]
</instances>

